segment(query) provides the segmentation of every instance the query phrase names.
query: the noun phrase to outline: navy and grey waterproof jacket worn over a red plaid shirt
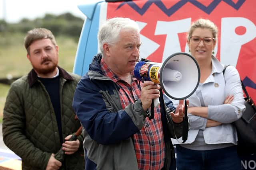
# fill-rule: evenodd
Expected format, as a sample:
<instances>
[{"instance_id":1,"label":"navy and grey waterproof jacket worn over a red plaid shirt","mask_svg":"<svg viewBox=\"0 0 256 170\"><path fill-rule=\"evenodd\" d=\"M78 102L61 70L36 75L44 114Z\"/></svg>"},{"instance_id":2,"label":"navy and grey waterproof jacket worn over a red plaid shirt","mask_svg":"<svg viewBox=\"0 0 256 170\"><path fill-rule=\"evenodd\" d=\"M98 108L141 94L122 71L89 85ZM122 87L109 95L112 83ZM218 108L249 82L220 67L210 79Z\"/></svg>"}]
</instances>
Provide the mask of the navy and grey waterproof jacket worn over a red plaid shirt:
<instances>
[{"instance_id":1,"label":"navy and grey waterproof jacket worn over a red plaid shirt","mask_svg":"<svg viewBox=\"0 0 256 170\"><path fill-rule=\"evenodd\" d=\"M88 73L80 80L73 100L73 108L83 126L86 169L138 170L132 141L145 123L146 112L141 101L129 104L125 109L119 97L118 86L104 76L100 68L102 55L96 55ZM175 107L168 100L168 107ZM170 140L173 136L168 126L164 109L161 108L166 151L165 168L174 165L174 149ZM176 136L182 133L182 124L174 124ZM169 127L169 128L168 128ZM172 164L171 164L172 162Z\"/></svg>"}]
</instances>

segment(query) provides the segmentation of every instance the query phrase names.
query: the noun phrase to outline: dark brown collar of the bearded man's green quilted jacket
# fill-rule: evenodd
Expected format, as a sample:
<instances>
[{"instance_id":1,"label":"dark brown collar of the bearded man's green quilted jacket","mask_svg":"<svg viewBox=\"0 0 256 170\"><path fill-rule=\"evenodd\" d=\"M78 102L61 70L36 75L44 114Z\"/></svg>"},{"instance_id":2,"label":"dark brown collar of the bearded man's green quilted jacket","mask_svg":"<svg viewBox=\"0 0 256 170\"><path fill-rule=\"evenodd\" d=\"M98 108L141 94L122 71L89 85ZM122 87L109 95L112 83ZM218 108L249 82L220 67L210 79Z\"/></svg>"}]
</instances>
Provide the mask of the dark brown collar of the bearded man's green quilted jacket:
<instances>
[{"instance_id":1,"label":"dark brown collar of the bearded man's green quilted jacket","mask_svg":"<svg viewBox=\"0 0 256 170\"><path fill-rule=\"evenodd\" d=\"M68 72L66 72L63 68L59 67L59 76L63 77L66 80L74 80L72 78L72 76L70 76L70 74L68 74ZM28 84L29 86L33 86L36 82L38 81L38 76L35 72L34 69L32 69L29 73L28 73Z\"/></svg>"}]
</instances>

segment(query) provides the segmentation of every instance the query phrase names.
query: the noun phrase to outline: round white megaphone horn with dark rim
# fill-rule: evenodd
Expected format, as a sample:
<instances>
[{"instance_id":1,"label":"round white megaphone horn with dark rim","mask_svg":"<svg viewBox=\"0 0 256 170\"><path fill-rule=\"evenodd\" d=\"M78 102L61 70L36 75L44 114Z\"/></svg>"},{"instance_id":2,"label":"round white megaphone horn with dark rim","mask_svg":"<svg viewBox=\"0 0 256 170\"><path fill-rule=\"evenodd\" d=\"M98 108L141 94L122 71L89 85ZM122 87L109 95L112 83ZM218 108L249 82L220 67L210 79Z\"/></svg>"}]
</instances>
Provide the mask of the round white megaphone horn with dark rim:
<instances>
[{"instance_id":1,"label":"round white megaphone horn with dark rim","mask_svg":"<svg viewBox=\"0 0 256 170\"><path fill-rule=\"evenodd\" d=\"M170 81L169 69L177 70L182 74L180 81ZM200 82L199 65L188 53L174 53L162 64L160 70L160 84L165 94L175 100L190 97Z\"/></svg>"}]
</instances>

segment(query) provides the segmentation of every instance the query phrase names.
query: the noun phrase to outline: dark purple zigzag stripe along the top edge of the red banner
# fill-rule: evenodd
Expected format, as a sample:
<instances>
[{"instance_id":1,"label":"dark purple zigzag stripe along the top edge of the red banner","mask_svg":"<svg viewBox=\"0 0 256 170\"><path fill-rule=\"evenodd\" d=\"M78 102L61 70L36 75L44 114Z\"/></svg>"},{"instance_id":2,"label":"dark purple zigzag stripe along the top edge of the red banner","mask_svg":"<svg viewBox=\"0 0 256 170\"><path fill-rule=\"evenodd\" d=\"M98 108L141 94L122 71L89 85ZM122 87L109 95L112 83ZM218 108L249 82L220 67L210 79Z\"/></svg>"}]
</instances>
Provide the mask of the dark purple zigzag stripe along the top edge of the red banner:
<instances>
[{"instance_id":1,"label":"dark purple zigzag stripe along the top edge of the red banner","mask_svg":"<svg viewBox=\"0 0 256 170\"><path fill-rule=\"evenodd\" d=\"M204 11L205 13L210 14L216 8L216 6L218 6L218 4L220 4L221 1L226 2L228 5L230 5L232 8L234 8L236 10L238 10L242 6L242 4L244 4L244 2L245 2L245 0L238 0L238 2L236 2L236 4L235 4L232 0L213 0L209 6L204 6L197 0L180 0L176 4L174 4L174 6L167 9L166 6L164 6L164 3L162 2L162 0L148 0L142 8L137 6L136 3L134 3L133 1L128 1L128 2L123 2L122 4L120 4L116 8L116 10L118 10L125 4L128 4L131 8L133 8L136 12L138 12L142 16L152 4L155 4L167 16L171 16L172 14L174 14L174 12L179 10L186 3L190 2L194 6L198 7L202 11Z\"/></svg>"}]
</instances>

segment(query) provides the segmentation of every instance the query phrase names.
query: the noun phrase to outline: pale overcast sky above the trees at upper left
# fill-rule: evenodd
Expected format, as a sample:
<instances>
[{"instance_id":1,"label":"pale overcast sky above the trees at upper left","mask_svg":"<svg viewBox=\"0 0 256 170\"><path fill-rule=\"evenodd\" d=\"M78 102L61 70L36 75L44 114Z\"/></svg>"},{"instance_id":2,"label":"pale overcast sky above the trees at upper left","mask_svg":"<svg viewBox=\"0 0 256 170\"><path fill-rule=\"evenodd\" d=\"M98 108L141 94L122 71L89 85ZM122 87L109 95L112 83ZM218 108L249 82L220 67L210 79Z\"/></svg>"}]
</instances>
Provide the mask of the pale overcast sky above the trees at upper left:
<instances>
[{"instance_id":1,"label":"pale overcast sky above the trees at upper left","mask_svg":"<svg viewBox=\"0 0 256 170\"><path fill-rule=\"evenodd\" d=\"M23 18L35 19L46 13L58 15L65 12L85 18L77 6L92 1L99 0L0 0L0 19L17 23Z\"/></svg>"}]
</instances>

